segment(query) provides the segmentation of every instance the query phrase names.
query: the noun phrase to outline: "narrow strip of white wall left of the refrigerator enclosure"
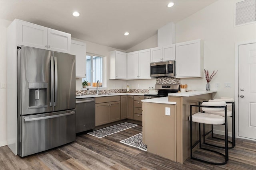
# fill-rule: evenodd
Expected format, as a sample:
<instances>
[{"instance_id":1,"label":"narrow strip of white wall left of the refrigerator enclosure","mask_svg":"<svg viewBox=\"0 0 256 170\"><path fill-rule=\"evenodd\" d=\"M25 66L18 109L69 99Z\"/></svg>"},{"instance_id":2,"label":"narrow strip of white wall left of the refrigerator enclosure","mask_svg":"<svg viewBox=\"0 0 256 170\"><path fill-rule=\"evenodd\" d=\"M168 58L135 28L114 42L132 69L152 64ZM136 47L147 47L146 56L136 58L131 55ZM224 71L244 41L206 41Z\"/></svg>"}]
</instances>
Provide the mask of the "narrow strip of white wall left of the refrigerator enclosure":
<instances>
[{"instance_id":1,"label":"narrow strip of white wall left of the refrigerator enclosure","mask_svg":"<svg viewBox=\"0 0 256 170\"><path fill-rule=\"evenodd\" d=\"M11 21L0 20L0 147L7 145L7 119L6 119L6 34Z\"/></svg>"}]
</instances>

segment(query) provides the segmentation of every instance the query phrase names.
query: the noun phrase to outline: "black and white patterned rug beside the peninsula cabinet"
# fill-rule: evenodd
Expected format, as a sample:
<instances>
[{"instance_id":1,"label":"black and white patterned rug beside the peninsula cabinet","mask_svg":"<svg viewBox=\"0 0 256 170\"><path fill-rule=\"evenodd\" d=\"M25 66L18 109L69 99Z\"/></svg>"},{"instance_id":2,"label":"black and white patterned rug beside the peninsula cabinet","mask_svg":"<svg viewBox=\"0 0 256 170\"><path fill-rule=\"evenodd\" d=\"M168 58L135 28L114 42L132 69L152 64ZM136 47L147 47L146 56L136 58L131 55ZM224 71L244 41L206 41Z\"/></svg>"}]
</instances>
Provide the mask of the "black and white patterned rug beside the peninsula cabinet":
<instances>
[{"instance_id":1,"label":"black and white patterned rug beside the peninsula cabinet","mask_svg":"<svg viewBox=\"0 0 256 170\"><path fill-rule=\"evenodd\" d=\"M144 151L148 150L148 146L145 145L142 141L142 133L129 137L128 139L124 139L120 142Z\"/></svg>"}]
</instances>

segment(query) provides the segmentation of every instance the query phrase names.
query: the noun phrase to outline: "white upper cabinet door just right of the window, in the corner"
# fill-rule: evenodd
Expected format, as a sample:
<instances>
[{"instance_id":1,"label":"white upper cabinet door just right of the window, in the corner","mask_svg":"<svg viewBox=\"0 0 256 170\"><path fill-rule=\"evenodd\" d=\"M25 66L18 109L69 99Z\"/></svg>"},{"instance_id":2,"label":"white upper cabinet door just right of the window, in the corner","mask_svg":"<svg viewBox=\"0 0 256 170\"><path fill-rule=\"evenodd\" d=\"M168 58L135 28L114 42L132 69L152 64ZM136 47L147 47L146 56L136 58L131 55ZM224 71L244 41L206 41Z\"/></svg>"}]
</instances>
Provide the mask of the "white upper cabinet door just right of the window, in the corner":
<instances>
[{"instance_id":1,"label":"white upper cabinet door just right of the window, in the corner","mask_svg":"<svg viewBox=\"0 0 256 170\"><path fill-rule=\"evenodd\" d=\"M116 51L116 79L126 79L126 53Z\"/></svg>"}]
</instances>

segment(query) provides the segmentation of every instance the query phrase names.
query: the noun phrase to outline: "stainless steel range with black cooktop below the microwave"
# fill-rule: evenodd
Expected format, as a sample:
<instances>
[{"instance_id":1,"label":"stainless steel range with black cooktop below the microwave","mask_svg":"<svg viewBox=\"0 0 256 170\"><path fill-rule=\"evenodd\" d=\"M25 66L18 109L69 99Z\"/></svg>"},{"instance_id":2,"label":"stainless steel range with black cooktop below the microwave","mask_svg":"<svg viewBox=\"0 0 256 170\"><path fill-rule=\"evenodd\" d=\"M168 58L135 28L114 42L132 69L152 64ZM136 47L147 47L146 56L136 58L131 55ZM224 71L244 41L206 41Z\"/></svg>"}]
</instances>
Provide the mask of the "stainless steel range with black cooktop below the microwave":
<instances>
[{"instance_id":1,"label":"stainless steel range with black cooktop below the microwave","mask_svg":"<svg viewBox=\"0 0 256 170\"><path fill-rule=\"evenodd\" d=\"M158 90L158 94L144 94L144 99L167 97L169 93L177 93L179 84L156 84L155 90Z\"/></svg>"}]
</instances>

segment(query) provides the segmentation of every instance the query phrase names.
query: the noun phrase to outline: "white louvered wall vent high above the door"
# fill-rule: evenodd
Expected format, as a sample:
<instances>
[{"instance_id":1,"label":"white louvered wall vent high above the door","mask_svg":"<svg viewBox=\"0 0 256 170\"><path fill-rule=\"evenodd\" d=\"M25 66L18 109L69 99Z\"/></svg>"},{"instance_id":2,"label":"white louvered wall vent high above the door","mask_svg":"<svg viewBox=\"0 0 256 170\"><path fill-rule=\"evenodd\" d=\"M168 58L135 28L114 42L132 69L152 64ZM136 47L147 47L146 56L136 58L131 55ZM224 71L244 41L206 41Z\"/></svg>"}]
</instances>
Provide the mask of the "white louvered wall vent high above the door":
<instances>
[{"instance_id":1,"label":"white louvered wall vent high above the door","mask_svg":"<svg viewBox=\"0 0 256 170\"><path fill-rule=\"evenodd\" d=\"M235 26L256 23L256 0L244 0L235 4Z\"/></svg>"}]
</instances>

